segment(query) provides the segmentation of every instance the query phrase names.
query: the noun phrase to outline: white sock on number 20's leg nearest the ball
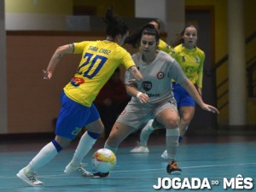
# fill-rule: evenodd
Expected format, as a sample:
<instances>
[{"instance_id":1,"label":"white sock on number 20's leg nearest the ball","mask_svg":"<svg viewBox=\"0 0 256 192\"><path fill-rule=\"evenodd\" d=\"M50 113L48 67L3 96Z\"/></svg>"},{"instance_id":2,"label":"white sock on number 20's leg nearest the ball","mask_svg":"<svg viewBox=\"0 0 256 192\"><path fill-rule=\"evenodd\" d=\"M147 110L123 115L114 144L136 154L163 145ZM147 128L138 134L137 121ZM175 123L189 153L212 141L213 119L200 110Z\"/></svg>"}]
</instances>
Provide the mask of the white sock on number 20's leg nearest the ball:
<instances>
[{"instance_id":1,"label":"white sock on number 20's leg nearest the ball","mask_svg":"<svg viewBox=\"0 0 256 192\"><path fill-rule=\"evenodd\" d=\"M73 154L73 159L70 164L73 166L79 166L84 159L84 156L88 154L94 143L96 143L96 139L90 137L86 131L80 138L79 145Z\"/></svg>"}]
</instances>

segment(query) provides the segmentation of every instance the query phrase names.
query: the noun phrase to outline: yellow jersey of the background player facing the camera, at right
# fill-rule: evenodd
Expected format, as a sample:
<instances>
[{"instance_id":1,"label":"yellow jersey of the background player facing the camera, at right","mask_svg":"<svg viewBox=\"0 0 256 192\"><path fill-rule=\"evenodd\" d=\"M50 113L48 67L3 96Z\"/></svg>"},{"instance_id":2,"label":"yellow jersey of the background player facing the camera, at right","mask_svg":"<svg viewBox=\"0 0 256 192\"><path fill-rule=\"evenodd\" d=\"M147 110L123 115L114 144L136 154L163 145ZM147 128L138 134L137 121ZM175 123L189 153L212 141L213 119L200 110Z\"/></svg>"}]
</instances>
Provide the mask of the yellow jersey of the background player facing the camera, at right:
<instances>
[{"instance_id":1,"label":"yellow jersey of the background player facing the camera, at right","mask_svg":"<svg viewBox=\"0 0 256 192\"><path fill-rule=\"evenodd\" d=\"M186 49L183 44L179 44L172 49L170 55L180 64L187 78L202 88L203 66L206 57L204 51L198 47Z\"/></svg>"}]
</instances>

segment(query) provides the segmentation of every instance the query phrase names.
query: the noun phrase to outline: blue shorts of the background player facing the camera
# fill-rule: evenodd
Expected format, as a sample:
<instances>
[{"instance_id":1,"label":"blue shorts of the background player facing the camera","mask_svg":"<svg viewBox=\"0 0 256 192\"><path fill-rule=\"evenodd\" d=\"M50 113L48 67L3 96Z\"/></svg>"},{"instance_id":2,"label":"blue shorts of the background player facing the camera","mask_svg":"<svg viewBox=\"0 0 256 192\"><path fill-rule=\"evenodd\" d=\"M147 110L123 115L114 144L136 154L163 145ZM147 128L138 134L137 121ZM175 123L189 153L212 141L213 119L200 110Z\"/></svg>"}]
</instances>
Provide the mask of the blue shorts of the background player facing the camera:
<instances>
[{"instance_id":1,"label":"blue shorts of the background player facing the camera","mask_svg":"<svg viewBox=\"0 0 256 192\"><path fill-rule=\"evenodd\" d=\"M179 85L172 83L173 88L173 95L175 97L175 100L177 102L177 108L181 107L194 107L195 108L195 100L192 98L192 96L189 95L187 90L184 90L184 88Z\"/></svg>"}]
</instances>

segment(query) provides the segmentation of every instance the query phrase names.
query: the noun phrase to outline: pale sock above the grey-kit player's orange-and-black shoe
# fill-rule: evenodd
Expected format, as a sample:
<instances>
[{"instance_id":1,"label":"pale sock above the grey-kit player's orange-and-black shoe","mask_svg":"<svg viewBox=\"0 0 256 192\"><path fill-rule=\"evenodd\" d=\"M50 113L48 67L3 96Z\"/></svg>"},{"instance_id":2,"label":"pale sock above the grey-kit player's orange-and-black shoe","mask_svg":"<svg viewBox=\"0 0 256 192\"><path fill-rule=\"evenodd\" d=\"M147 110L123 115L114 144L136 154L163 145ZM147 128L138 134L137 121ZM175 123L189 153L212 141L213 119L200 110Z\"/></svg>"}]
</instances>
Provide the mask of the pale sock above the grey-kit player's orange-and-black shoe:
<instances>
[{"instance_id":1,"label":"pale sock above the grey-kit player's orange-and-black shoe","mask_svg":"<svg viewBox=\"0 0 256 192\"><path fill-rule=\"evenodd\" d=\"M179 129L166 129L166 149L169 163L175 160L178 147Z\"/></svg>"}]
</instances>

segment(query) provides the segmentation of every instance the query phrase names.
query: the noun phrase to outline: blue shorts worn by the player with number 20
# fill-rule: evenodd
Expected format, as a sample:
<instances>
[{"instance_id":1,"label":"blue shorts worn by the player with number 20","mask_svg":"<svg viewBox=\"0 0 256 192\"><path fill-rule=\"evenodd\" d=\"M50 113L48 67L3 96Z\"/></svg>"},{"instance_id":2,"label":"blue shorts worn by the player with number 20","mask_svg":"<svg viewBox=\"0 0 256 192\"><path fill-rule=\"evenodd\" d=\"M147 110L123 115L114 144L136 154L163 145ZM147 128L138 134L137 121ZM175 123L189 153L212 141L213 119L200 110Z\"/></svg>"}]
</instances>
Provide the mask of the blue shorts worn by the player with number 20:
<instances>
[{"instance_id":1,"label":"blue shorts worn by the player with number 20","mask_svg":"<svg viewBox=\"0 0 256 192\"><path fill-rule=\"evenodd\" d=\"M74 139L85 125L100 118L95 105L85 107L61 94L61 111L57 118L55 135Z\"/></svg>"}]
</instances>

